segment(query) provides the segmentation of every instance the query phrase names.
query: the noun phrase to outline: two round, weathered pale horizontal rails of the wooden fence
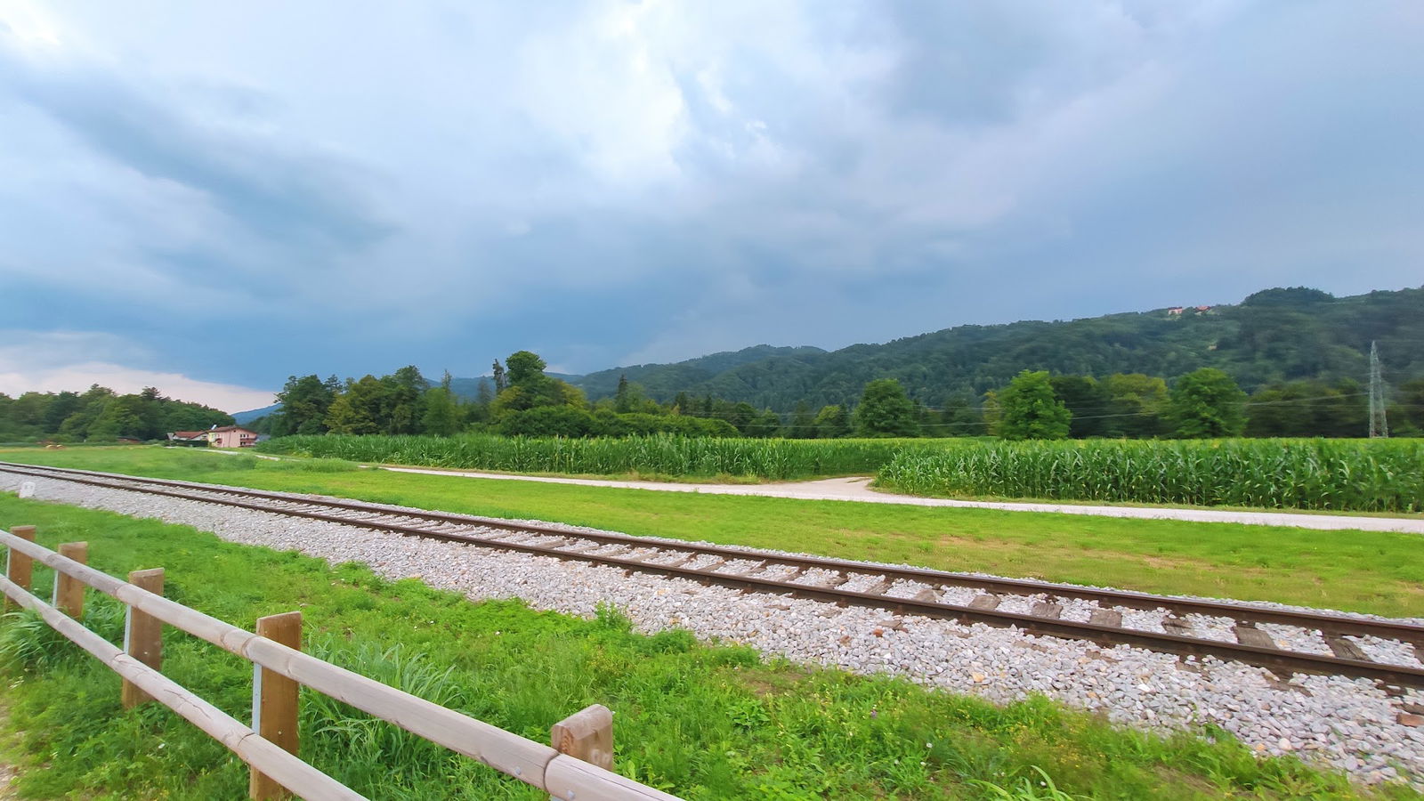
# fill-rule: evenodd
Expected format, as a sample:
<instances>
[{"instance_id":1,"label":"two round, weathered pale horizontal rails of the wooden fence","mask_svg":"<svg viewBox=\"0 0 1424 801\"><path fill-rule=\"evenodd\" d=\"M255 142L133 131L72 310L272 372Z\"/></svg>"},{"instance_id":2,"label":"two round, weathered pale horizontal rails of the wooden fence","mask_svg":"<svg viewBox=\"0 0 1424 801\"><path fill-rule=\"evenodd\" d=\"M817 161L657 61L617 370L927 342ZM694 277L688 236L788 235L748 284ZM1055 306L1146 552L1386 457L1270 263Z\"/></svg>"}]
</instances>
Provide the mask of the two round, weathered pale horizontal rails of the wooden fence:
<instances>
[{"instance_id":1,"label":"two round, weathered pale horizontal rails of the wooden fence","mask_svg":"<svg viewBox=\"0 0 1424 801\"><path fill-rule=\"evenodd\" d=\"M51 629L124 677L125 698L130 697L127 694L128 686L132 686L144 694L144 700L152 698L174 710L228 747L248 763L255 772L261 772L296 795L310 800L362 798L357 792L343 787L336 780L263 738L256 731L259 727L258 721L253 721L253 725L242 724L164 677L157 668L144 664L135 656L132 647L118 648L85 629L75 617L66 613L68 609L78 610L83 607L83 593L80 593L80 600L75 603L74 590L68 586L68 582L64 582L66 597L63 600L60 597L56 599L56 604L67 607L63 611L31 594L28 590L33 562L51 567L57 576L68 577L124 603L128 607L130 616L130 624L125 626L125 631L128 633L137 631L134 620L140 616L167 623L251 661L253 666L262 668L262 671L258 671L258 676L271 671L271 674L310 687L412 734L450 748L457 754L478 760L500 772L550 792L554 798L577 801L678 801L675 795L646 787L618 775L605 767L592 764L598 761L611 767L611 715L608 715L609 723L605 725L607 731L588 733L565 748L544 745L382 684L359 673L319 660L295 647L224 623L134 583L88 567L80 560L61 556L36 544L33 537L33 526L16 527L13 533L0 532L0 544L9 549L6 577L0 579L0 589L4 590L7 604L13 601L36 611ZM87 556L87 549L66 546L61 546L61 549L75 554L83 550L83 554ZM137 576L134 574L134 577ZM157 586L161 587L161 576L158 582ZM57 590L61 582L57 580ZM141 646L141 643L125 643L125 646ZM256 696L262 696L261 681L258 684ZM253 706L255 710L259 708L256 697ZM590 707L554 725L553 737L555 744L560 744L561 740L570 741L568 731L587 728L588 720L601 720L597 710L601 710L601 707ZM268 727L261 725L261 728L265 730ZM607 743L607 745L590 750L584 741ZM580 754L580 751L585 753ZM580 754L587 757L588 753L594 754L594 757L590 757L591 761L571 755ZM253 778L253 787L256 784L258 781Z\"/></svg>"}]
</instances>

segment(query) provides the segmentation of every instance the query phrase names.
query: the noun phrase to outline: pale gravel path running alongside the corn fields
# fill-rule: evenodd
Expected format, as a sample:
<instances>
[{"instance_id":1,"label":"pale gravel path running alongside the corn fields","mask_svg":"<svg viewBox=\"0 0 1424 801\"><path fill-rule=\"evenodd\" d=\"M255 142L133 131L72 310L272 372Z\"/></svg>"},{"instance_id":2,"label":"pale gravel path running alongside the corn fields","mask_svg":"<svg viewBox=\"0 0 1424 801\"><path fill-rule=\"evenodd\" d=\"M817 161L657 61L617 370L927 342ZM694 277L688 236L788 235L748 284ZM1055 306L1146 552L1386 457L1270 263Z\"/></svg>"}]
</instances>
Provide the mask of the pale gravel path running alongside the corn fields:
<instances>
[{"instance_id":1,"label":"pale gravel path running alongside the corn fields","mask_svg":"<svg viewBox=\"0 0 1424 801\"><path fill-rule=\"evenodd\" d=\"M768 497L799 497L805 500L850 500L860 503L894 503L904 506L957 506L965 509L1000 509L1005 512L1051 512L1058 515L1096 515L1102 517L1136 517L1145 520L1195 520L1200 523L1249 523L1256 526L1294 526L1297 529L1356 529L1367 532L1405 532L1424 534L1424 520L1400 517L1351 517L1347 515L1299 515L1290 512L1218 512L1212 509L1156 509L1142 506L1091 506L1072 503L1007 503L993 500L953 500L947 497L916 497L870 489L869 477L820 479L772 485L692 485L669 482L619 482L608 479L561 479L553 476L511 476L474 470L434 470L427 467L382 467L394 473L426 473L431 476L464 476L511 482L540 482L557 485L648 489L656 492L696 492L703 495L756 495Z\"/></svg>"}]
</instances>

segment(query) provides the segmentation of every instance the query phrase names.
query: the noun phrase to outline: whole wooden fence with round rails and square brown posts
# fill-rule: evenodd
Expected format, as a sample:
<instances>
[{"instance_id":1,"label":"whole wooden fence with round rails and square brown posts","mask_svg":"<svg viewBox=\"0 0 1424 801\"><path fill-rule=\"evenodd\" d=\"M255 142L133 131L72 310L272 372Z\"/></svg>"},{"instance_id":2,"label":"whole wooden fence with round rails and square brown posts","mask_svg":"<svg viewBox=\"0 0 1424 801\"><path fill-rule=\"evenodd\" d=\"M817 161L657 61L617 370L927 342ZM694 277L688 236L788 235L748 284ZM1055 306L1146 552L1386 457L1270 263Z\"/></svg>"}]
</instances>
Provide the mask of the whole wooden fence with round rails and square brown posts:
<instances>
[{"instance_id":1,"label":"whole wooden fence with round rails and square brown posts","mask_svg":"<svg viewBox=\"0 0 1424 801\"><path fill-rule=\"evenodd\" d=\"M451 751L478 760L568 801L678 801L612 772L612 713L592 706L551 731L553 745L466 717L300 651L300 613L258 620L258 631L209 617L162 597L162 569L137 570L128 582L88 567L88 544L58 552L34 543L34 526L0 532L9 552L0 577L6 607L34 610L50 627L124 678L125 707L158 701L248 763L252 798L353 800L360 794L296 757L298 688L310 687ZM33 563L54 569L53 606L30 593ZM127 607L124 647L85 629L84 587ZM168 624L251 661L252 725L246 725L159 673L162 626Z\"/></svg>"}]
</instances>

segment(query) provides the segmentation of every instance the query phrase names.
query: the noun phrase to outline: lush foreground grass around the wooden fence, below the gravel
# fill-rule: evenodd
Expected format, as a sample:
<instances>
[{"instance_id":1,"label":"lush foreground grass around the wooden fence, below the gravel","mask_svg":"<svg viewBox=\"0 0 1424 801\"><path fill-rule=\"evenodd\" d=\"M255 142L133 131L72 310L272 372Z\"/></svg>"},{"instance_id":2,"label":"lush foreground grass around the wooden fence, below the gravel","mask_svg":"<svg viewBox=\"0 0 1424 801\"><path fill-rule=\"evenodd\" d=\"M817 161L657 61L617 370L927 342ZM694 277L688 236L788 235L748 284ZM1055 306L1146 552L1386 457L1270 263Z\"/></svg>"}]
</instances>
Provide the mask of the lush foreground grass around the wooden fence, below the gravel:
<instances>
[{"instance_id":1,"label":"lush foreground grass around the wooden fence, below the gravel","mask_svg":"<svg viewBox=\"0 0 1424 801\"><path fill-rule=\"evenodd\" d=\"M631 633L615 610L580 620L471 603L356 564L0 496L0 526L23 523L50 547L88 540L91 563L111 574L162 566L169 597L241 626L300 609L308 650L534 740L607 704L615 770L686 798L1418 798L1353 788L1294 758L1257 760L1220 731L1208 733L1215 743L1159 738L1044 698L995 707L904 680L763 664L685 631ZM48 586L47 572L36 586ZM117 603L91 593L88 609L90 626L120 636ZM164 654L165 674L246 717L246 663L171 629ZM245 794L246 771L221 745L161 707L122 711L118 678L27 613L0 621L0 674L14 733L4 755L21 797ZM372 798L541 797L312 693L302 757Z\"/></svg>"}]
</instances>

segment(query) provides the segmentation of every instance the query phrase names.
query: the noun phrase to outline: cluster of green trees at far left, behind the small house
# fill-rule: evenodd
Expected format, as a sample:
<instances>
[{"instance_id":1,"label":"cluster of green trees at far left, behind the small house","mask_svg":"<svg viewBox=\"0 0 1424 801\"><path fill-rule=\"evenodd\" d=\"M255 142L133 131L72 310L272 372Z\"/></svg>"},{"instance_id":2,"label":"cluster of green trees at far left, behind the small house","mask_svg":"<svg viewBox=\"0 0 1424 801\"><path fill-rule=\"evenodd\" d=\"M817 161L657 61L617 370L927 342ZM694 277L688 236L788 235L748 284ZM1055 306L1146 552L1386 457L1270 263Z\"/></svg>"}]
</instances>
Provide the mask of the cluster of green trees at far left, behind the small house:
<instances>
[{"instance_id":1,"label":"cluster of green trees at far left, behind the small house","mask_svg":"<svg viewBox=\"0 0 1424 801\"><path fill-rule=\"evenodd\" d=\"M162 439L174 430L229 426L226 412L174 400L148 386L118 395L93 385L85 392L0 393L0 442L114 442Z\"/></svg>"}]
</instances>

